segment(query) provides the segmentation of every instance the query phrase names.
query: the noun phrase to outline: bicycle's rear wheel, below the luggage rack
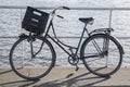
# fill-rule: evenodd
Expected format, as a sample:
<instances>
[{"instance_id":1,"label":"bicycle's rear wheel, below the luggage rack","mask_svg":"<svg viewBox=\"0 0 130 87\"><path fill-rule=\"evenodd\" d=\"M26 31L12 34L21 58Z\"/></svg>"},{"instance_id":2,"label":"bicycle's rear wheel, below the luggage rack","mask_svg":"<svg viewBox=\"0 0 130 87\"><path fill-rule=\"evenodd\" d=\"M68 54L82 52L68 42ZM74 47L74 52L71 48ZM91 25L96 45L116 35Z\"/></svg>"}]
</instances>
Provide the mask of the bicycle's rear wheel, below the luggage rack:
<instances>
[{"instance_id":1,"label":"bicycle's rear wheel, below the luggage rack","mask_svg":"<svg viewBox=\"0 0 130 87\"><path fill-rule=\"evenodd\" d=\"M122 62L122 49L108 35L98 34L88 38L81 47L84 66L93 74L105 77L117 72Z\"/></svg>"}]
</instances>

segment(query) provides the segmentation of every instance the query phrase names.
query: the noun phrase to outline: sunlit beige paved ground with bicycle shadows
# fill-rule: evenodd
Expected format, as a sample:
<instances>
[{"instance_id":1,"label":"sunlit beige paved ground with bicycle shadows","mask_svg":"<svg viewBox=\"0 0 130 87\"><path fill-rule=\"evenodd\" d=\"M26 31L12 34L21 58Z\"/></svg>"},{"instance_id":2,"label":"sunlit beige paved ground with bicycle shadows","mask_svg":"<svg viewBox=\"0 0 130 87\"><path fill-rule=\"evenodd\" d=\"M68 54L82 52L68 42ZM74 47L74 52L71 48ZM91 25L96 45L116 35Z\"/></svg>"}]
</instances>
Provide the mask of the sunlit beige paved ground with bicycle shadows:
<instances>
[{"instance_id":1,"label":"sunlit beige paved ground with bicycle shadows","mask_svg":"<svg viewBox=\"0 0 130 87\"><path fill-rule=\"evenodd\" d=\"M40 80L29 82L12 70L0 69L0 87L130 87L130 69L121 69L109 78L98 77L80 67L54 67Z\"/></svg>"}]
</instances>

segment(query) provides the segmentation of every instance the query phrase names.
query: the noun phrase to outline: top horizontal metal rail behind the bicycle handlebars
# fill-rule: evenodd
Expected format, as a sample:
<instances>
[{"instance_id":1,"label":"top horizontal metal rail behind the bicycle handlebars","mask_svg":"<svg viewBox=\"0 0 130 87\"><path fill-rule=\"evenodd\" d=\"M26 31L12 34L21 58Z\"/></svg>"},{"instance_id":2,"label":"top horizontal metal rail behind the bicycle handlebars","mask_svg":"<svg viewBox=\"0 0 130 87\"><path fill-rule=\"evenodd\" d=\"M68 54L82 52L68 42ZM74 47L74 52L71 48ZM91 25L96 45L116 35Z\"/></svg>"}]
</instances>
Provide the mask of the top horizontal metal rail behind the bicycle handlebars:
<instances>
[{"instance_id":1,"label":"top horizontal metal rail behind the bicycle handlebars","mask_svg":"<svg viewBox=\"0 0 130 87\"><path fill-rule=\"evenodd\" d=\"M26 9L27 7L21 7L21 5L0 5L0 9ZM37 9L43 9L43 10L51 10L54 9L55 7L34 7ZM80 7L80 8L75 8L70 7L72 10L130 10L130 8L86 8L86 7Z\"/></svg>"}]
</instances>

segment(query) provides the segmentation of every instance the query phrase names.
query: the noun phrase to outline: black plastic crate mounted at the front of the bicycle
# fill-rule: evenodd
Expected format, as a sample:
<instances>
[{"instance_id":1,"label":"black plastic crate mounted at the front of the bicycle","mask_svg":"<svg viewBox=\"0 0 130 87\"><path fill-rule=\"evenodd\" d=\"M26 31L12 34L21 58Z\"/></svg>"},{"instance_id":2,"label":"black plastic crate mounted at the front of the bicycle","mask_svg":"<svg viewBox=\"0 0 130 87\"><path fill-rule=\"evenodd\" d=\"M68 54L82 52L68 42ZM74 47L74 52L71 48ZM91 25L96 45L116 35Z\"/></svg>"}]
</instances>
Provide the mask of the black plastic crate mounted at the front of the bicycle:
<instances>
[{"instance_id":1,"label":"black plastic crate mounted at the front of the bicycle","mask_svg":"<svg viewBox=\"0 0 130 87\"><path fill-rule=\"evenodd\" d=\"M22 28L40 35L44 33L48 20L49 13L27 7L24 20L22 22Z\"/></svg>"}]
</instances>

